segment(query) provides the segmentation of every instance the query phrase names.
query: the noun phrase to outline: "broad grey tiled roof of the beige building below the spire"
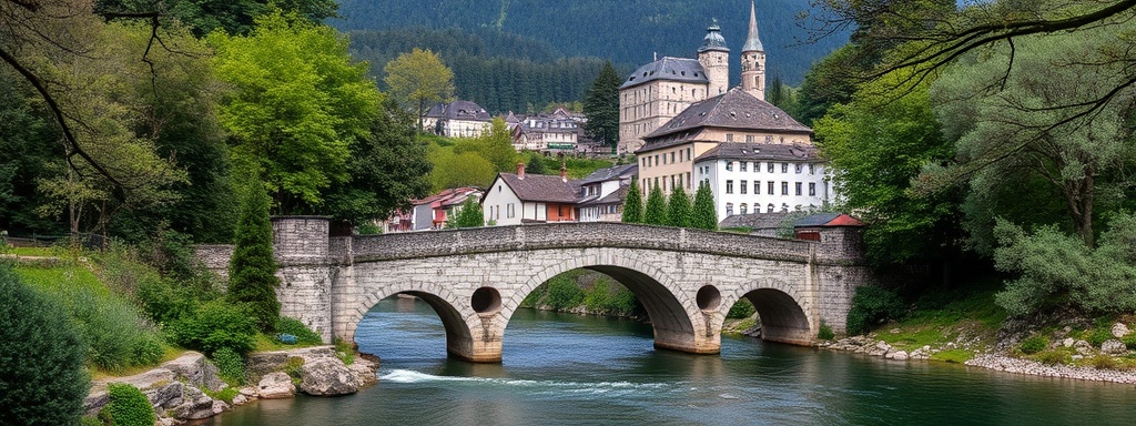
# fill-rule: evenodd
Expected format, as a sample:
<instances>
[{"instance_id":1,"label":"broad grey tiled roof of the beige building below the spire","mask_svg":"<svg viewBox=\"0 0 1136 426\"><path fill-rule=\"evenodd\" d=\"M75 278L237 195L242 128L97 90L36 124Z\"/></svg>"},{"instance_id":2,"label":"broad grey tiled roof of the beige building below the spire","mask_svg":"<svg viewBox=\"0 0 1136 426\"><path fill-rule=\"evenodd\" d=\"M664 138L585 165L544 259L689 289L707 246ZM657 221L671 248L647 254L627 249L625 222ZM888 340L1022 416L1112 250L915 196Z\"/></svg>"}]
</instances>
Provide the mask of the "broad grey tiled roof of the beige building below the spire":
<instances>
[{"instance_id":1,"label":"broad grey tiled roof of the beige building below the spire","mask_svg":"<svg viewBox=\"0 0 1136 426\"><path fill-rule=\"evenodd\" d=\"M648 149L652 140L695 127L722 127L747 131L811 134L787 112L769 102L734 87L726 93L691 105L682 114L646 135Z\"/></svg>"}]
</instances>

